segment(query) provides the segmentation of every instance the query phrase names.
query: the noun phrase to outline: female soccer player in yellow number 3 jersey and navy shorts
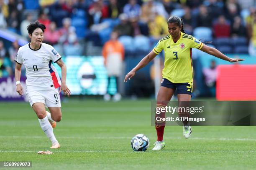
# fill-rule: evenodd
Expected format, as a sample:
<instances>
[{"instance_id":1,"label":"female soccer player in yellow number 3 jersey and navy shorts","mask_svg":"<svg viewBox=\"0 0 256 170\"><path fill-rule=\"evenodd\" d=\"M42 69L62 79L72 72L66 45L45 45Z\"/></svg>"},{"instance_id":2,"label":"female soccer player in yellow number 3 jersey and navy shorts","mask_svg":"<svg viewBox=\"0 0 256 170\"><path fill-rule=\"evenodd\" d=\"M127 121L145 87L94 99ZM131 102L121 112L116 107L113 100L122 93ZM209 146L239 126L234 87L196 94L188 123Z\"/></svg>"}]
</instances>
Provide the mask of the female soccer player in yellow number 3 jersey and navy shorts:
<instances>
[{"instance_id":1,"label":"female soccer player in yellow number 3 jersey and navy shorts","mask_svg":"<svg viewBox=\"0 0 256 170\"><path fill-rule=\"evenodd\" d=\"M146 55L127 75L124 82L131 79L142 67L148 64L156 55L164 50L164 69L162 70L163 79L159 89L156 107L165 107L171 100L174 90L177 89L179 107L180 101L190 101L193 88L193 67L192 67L192 48L197 48L220 59L237 62L244 59L229 58L219 50L208 47L195 37L188 35L183 30L183 20L177 16L172 16L167 21L168 32L170 35L159 40L154 49ZM164 113L163 113L164 114ZM189 116L187 113L179 112L179 116ZM183 121L183 135L189 138L192 133L188 121ZM157 141L153 150L161 150L165 143L163 140L165 122L161 125L156 124Z\"/></svg>"}]
</instances>

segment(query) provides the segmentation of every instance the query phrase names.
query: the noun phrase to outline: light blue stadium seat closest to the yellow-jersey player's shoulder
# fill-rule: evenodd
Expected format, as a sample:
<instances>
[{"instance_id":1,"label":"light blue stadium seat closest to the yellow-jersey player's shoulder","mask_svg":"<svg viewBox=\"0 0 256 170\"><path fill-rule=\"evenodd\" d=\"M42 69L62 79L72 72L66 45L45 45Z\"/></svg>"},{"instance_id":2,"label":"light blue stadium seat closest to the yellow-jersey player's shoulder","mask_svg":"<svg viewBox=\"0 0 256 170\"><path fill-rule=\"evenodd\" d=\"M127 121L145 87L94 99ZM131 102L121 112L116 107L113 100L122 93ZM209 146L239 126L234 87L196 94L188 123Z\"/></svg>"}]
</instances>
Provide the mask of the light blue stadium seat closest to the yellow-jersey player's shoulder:
<instances>
[{"instance_id":1,"label":"light blue stadium seat closest to the yellow-jersey player's shoulder","mask_svg":"<svg viewBox=\"0 0 256 170\"><path fill-rule=\"evenodd\" d=\"M149 38L143 35L139 35L133 38L134 47L136 51L149 51L150 50L150 41Z\"/></svg>"}]
</instances>

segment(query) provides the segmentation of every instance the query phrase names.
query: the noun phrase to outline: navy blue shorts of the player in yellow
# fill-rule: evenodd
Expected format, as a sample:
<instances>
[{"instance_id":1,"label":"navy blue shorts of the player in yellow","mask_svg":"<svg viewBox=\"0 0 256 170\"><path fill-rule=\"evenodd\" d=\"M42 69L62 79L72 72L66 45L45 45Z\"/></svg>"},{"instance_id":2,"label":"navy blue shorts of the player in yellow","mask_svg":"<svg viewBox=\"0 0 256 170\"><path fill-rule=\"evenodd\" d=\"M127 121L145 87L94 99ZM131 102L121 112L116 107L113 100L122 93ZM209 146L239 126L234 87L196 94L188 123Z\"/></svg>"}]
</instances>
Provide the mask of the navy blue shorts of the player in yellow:
<instances>
[{"instance_id":1,"label":"navy blue shorts of the player in yellow","mask_svg":"<svg viewBox=\"0 0 256 170\"><path fill-rule=\"evenodd\" d=\"M184 83L173 83L163 78L161 81L161 86L177 89L178 94L188 94L192 95L193 92L193 82L184 82Z\"/></svg>"}]
</instances>

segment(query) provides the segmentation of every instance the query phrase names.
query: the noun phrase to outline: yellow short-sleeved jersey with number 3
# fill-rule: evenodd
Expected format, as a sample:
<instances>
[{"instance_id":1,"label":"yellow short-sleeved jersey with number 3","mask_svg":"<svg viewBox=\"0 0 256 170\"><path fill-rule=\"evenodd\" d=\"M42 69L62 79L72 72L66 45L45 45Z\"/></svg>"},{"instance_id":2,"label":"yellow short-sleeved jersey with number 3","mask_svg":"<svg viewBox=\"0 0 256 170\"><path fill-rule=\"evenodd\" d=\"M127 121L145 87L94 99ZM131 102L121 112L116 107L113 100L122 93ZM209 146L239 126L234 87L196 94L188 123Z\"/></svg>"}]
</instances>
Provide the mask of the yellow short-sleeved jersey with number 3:
<instances>
[{"instance_id":1,"label":"yellow short-sleeved jersey with number 3","mask_svg":"<svg viewBox=\"0 0 256 170\"><path fill-rule=\"evenodd\" d=\"M164 50L163 78L173 83L193 82L192 48L200 50L202 46L202 42L183 32L176 43L171 35L159 40L153 51L159 54Z\"/></svg>"}]
</instances>

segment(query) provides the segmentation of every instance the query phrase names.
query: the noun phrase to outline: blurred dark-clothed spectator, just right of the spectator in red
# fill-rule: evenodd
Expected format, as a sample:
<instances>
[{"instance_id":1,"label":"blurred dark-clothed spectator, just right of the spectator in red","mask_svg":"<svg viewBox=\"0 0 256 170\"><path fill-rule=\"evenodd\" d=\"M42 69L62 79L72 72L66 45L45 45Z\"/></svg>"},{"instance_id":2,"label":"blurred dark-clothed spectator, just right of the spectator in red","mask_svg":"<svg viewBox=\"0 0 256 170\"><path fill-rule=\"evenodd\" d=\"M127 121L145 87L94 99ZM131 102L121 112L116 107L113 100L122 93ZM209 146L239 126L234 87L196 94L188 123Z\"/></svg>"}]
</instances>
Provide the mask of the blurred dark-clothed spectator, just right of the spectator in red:
<instances>
[{"instance_id":1,"label":"blurred dark-clothed spectator, just right of the spectator in red","mask_svg":"<svg viewBox=\"0 0 256 170\"><path fill-rule=\"evenodd\" d=\"M246 28L242 24L240 16L234 18L234 23L231 28L232 37L245 37L247 36Z\"/></svg>"}]
</instances>

